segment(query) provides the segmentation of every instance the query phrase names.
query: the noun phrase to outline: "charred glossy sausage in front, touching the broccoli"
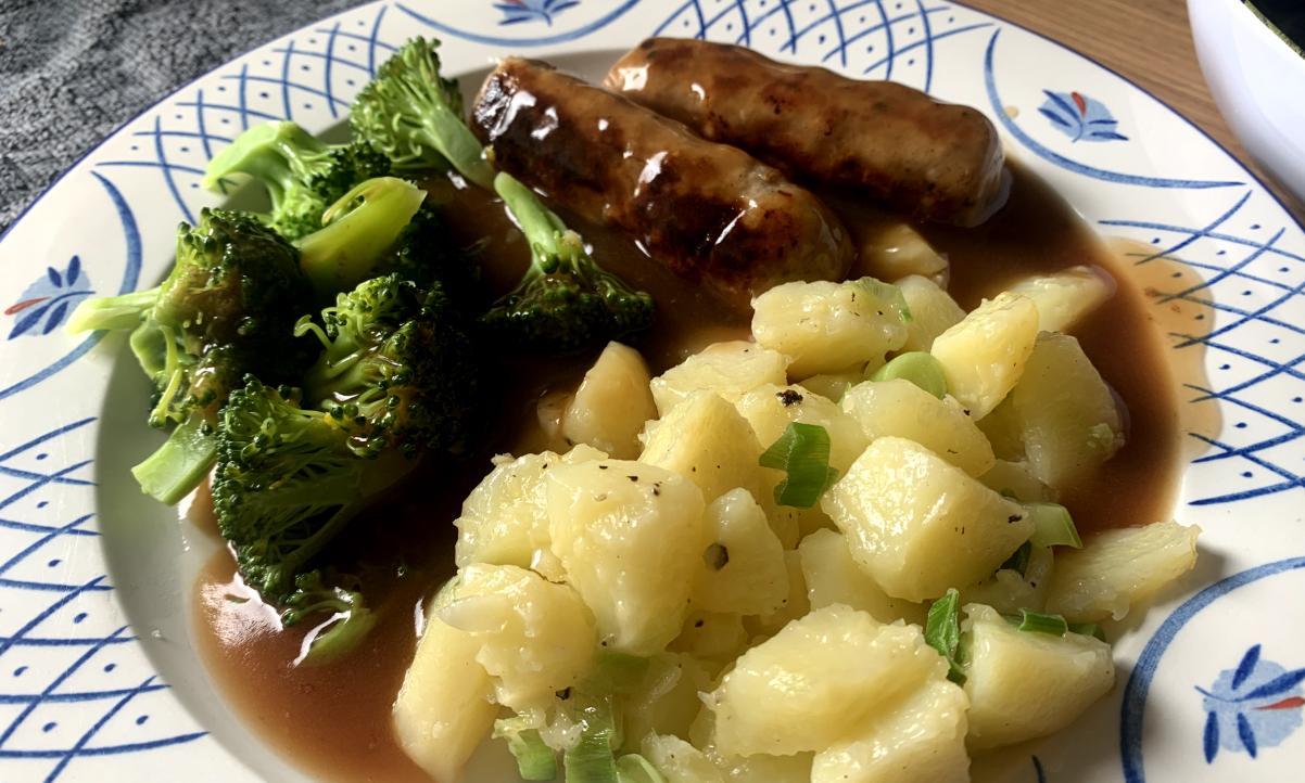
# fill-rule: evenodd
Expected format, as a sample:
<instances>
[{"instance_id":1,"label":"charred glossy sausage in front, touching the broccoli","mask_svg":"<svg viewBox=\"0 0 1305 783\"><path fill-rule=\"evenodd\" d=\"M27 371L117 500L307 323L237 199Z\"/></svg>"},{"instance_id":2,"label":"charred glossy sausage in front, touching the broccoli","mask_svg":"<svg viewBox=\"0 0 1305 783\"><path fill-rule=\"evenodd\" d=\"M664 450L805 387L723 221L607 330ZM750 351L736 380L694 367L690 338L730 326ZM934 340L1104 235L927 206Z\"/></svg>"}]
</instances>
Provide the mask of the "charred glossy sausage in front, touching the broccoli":
<instances>
[{"instance_id":1,"label":"charred glossy sausage in front, touching the broccoli","mask_svg":"<svg viewBox=\"0 0 1305 783\"><path fill-rule=\"evenodd\" d=\"M740 310L773 285L840 280L851 266L847 229L779 171L548 64L504 60L471 115L499 168L620 227Z\"/></svg>"}]
</instances>

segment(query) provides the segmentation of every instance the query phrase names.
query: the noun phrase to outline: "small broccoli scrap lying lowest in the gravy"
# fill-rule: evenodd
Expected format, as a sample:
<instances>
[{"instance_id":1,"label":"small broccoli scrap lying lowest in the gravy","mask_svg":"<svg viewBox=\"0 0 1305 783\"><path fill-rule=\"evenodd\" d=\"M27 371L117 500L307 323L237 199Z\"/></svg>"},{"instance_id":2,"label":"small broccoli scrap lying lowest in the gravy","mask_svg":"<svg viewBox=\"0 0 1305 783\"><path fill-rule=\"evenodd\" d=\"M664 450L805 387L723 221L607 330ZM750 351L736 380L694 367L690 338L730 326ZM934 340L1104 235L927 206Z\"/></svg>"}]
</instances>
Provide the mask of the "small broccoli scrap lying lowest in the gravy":
<instances>
[{"instance_id":1,"label":"small broccoli scrap lying lowest in the gravy","mask_svg":"<svg viewBox=\"0 0 1305 783\"><path fill-rule=\"evenodd\" d=\"M331 578L331 585L352 582L350 577ZM329 586L320 571L295 577L295 591L286 598L281 623L290 628L312 616L325 615L320 625L308 632L295 666L333 663L351 653L376 625L376 615L367 608L356 584Z\"/></svg>"}]
</instances>

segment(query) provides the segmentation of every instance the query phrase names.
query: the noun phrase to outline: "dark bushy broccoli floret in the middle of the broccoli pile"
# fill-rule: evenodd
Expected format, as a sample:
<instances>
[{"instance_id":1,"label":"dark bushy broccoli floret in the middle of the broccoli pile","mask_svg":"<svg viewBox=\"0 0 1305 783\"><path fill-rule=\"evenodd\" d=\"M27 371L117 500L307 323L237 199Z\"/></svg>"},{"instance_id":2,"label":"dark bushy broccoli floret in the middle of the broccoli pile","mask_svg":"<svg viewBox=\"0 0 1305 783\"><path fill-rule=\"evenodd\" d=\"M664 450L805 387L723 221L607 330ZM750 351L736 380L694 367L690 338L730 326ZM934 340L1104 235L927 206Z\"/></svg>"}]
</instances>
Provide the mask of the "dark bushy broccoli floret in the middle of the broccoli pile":
<instances>
[{"instance_id":1,"label":"dark bushy broccoli floret in the middle of the broccoli pile","mask_svg":"<svg viewBox=\"0 0 1305 783\"><path fill-rule=\"evenodd\" d=\"M324 328L325 327L325 328ZM325 350L304 375L304 399L348 433L360 456L395 449L458 455L479 417L479 367L458 309L436 284L373 278L296 334Z\"/></svg>"}]
</instances>

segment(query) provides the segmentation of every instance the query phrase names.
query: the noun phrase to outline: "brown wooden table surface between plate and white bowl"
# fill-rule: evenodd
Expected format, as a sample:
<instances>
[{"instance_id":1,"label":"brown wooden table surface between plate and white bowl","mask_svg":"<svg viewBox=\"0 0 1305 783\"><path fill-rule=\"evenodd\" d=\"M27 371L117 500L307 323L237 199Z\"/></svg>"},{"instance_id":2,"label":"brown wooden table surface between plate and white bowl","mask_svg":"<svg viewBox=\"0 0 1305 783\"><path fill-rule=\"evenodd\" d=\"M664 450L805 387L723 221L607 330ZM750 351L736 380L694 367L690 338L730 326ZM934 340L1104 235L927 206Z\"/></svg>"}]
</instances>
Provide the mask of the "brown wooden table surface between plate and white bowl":
<instances>
[{"instance_id":1,"label":"brown wooden table surface between plate and white bowl","mask_svg":"<svg viewBox=\"0 0 1305 783\"><path fill-rule=\"evenodd\" d=\"M1142 85L1228 147L1305 220L1305 205L1251 162L1219 115L1197 64L1184 0L963 1L1054 38Z\"/></svg>"}]
</instances>

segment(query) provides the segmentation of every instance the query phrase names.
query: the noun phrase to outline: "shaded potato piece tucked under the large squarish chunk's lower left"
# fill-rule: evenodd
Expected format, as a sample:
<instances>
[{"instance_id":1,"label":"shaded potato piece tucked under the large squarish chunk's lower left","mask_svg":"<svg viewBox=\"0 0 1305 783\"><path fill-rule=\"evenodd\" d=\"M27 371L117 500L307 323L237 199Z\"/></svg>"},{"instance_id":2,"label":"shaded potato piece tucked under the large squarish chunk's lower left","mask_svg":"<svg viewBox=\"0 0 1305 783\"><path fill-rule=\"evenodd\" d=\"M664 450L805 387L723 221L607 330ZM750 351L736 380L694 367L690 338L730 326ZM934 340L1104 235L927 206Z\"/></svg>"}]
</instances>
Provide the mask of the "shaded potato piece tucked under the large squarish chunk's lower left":
<instances>
[{"instance_id":1,"label":"shaded potato piece tucked under the large squarish chunk's lower left","mask_svg":"<svg viewBox=\"0 0 1305 783\"><path fill-rule=\"evenodd\" d=\"M852 560L842 533L817 530L803 539L797 552L806 581L806 599L813 610L842 603L869 612L880 623L906 620L924 624L925 607L889 598Z\"/></svg>"}]
</instances>

